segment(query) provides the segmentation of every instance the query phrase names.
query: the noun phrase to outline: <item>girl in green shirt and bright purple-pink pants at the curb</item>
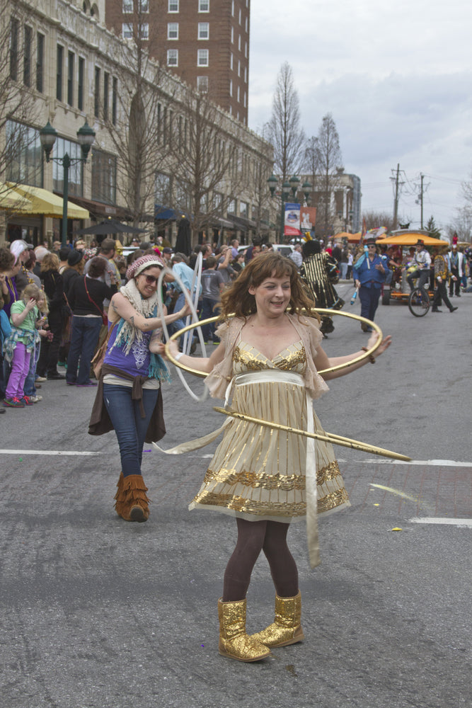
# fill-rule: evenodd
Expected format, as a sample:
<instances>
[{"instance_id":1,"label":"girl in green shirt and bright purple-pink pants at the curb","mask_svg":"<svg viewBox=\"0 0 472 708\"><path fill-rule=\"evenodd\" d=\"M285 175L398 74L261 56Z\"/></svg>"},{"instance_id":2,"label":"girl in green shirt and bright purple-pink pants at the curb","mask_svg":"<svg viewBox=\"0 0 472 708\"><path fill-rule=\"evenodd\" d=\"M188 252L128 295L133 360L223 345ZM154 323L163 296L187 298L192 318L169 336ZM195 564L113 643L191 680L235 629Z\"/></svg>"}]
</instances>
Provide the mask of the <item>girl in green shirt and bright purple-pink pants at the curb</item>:
<instances>
[{"instance_id":1,"label":"girl in green shirt and bright purple-pink pants at the curb","mask_svg":"<svg viewBox=\"0 0 472 708\"><path fill-rule=\"evenodd\" d=\"M25 396L25 379L30 370L31 353L40 341L39 325L36 325L40 311L38 300L42 291L38 285L27 285L21 299L11 306L11 335L5 342L5 358L11 362L11 372L6 385L4 406L8 408L24 408L33 405ZM46 334L45 331L43 331Z\"/></svg>"}]
</instances>

